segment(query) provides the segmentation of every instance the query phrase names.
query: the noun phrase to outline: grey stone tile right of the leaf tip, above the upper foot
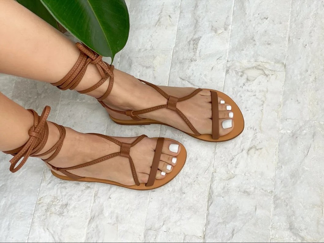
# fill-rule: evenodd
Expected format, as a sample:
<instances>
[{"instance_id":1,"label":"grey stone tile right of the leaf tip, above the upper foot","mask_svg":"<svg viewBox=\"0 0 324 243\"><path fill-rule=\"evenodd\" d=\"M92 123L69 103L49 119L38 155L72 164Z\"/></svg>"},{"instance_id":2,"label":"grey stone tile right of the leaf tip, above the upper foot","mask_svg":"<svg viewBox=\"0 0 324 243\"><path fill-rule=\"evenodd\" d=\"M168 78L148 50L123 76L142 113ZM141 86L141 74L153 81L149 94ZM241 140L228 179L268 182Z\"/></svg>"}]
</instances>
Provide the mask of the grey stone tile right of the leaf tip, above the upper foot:
<instances>
[{"instance_id":1,"label":"grey stone tile right of the leaf tip, above the upper foot","mask_svg":"<svg viewBox=\"0 0 324 243\"><path fill-rule=\"evenodd\" d=\"M156 85L168 85L172 51L123 50L119 69Z\"/></svg>"}]
</instances>

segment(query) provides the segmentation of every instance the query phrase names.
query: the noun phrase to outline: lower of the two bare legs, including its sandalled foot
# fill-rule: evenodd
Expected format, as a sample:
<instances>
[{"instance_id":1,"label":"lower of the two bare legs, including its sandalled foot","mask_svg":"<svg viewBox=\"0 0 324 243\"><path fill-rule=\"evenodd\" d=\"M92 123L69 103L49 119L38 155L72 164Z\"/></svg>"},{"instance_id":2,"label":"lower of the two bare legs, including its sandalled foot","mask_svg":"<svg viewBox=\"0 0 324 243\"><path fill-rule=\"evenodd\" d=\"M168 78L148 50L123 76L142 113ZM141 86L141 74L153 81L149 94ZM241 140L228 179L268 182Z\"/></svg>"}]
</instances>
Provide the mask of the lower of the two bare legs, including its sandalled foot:
<instances>
[{"instance_id":1,"label":"lower of the two bare legs, including its sandalled foot","mask_svg":"<svg viewBox=\"0 0 324 243\"><path fill-rule=\"evenodd\" d=\"M29 129L33 126L33 115L2 93L0 93L0 104L0 150L13 150L24 145L29 140ZM38 154L50 150L60 139L60 132L57 127L49 121L47 121L47 124L49 127L49 137L44 148ZM119 145L97 135L78 133L70 128L65 128L65 130L66 136L62 149L50 161L54 167L66 168L77 166L120 151ZM123 143L132 143L136 138L115 137L115 139ZM173 158L179 155L179 144L171 145L172 143L175 142L166 140L163 144L156 179L165 178L167 176L166 173L170 173L173 170L173 166L176 166L176 160ZM131 149L131 156L140 183L146 183L148 180L155 154L155 146L156 139L145 137ZM177 151L173 149L174 147L177 148ZM40 158L46 159L53 152ZM82 177L107 179L124 185L135 184L128 158L121 156L116 156L88 167L73 169L72 171L75 175Z\"/></svg>"}]
</instances>

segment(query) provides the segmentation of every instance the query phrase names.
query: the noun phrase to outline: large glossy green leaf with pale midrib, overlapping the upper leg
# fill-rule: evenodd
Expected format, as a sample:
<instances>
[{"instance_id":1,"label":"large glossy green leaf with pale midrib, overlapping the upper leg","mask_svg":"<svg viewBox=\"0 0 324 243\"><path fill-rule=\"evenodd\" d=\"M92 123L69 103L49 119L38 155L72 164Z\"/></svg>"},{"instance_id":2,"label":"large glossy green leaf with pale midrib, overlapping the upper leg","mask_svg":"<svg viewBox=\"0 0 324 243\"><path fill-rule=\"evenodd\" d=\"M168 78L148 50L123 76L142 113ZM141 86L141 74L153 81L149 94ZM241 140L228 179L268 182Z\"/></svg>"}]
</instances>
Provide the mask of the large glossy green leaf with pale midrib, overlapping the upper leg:
<instances>
[{"instance_id":1,"label":"large glossy green leaf with pale midrib, overlapping the upper leg","mask_svg":"<svg viewBox=\"0 0 324 243\"><path fill-rule=\"evenodd\" d=\"M113 58L126 44L129 15L124 0L41 0L53 17L77 39Z\"/></svg>"}]
</instances>

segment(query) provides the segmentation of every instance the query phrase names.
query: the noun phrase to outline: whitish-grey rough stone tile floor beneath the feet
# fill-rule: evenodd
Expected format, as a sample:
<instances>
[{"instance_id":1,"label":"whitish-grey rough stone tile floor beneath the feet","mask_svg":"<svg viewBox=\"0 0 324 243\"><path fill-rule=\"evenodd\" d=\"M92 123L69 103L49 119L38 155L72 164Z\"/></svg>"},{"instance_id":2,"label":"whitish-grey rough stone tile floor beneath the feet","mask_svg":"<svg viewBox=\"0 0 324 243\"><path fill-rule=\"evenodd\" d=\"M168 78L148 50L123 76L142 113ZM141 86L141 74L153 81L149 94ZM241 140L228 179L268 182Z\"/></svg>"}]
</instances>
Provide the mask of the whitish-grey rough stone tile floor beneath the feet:
<instances>
[{"instance_id":1,"label":"whitish-grey rough stone tile floor beneath the feet","mask_svg":"<svg viewBox=\"0 0 324 243\"><path fill-rule=\"evenodd\" d=\"M231 96L244 132L207 143L175 129L114 124L93 99L0 76L1 92L82 132L166 136L188 151L153 191L66 182L0 155L1 242L323 242L322 0L131 0L117 68L156 84ZM321 81L322 80L322 81ZM37 166L35 166L35 164Z\"/></svg>"}]
</instances>

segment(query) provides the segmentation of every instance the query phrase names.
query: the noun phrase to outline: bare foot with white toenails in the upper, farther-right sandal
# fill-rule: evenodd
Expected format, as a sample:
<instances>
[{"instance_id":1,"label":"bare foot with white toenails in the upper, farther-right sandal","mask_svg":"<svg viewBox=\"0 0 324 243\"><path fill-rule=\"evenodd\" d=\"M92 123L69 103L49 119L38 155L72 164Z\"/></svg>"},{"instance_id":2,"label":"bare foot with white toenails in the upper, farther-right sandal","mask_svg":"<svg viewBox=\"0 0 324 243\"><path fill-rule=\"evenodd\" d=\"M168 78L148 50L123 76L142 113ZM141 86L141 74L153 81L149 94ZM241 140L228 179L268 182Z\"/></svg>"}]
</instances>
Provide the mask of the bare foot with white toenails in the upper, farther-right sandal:
<instances>
[{"instance_id":1,"label":"bare foot with white toenails in the upper, farther-right sandal","mask_svg":"<svg viewBox=\"0 0 324 243\"><path fill-rule=\"evenodd\" d=\"M175 97L183 97L195 90L195 88L159 86L167 94ZM159 94L154 88L140 82L135 77L114 70L114 85L110 95L104 102L115 110L142 110L153 106L164 105L167 99ZM212 134L212 99L208 90L202 90L190 99L177 103L177 108L189 119L192 125L201 134ZM234 127L231 106L226 104L222 97L218 97L219 110L219 135L230 133ZM130 117L107 111L116 119L131 120ZM149 118L167 123L179 130L193 133L188 125L173 110L160 109L139 115L141 118Z\"/></svg>"}]
</instances>

